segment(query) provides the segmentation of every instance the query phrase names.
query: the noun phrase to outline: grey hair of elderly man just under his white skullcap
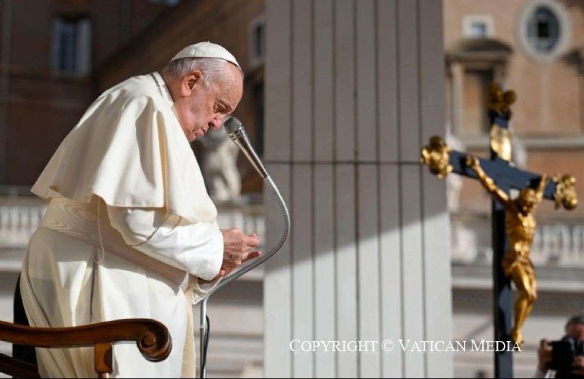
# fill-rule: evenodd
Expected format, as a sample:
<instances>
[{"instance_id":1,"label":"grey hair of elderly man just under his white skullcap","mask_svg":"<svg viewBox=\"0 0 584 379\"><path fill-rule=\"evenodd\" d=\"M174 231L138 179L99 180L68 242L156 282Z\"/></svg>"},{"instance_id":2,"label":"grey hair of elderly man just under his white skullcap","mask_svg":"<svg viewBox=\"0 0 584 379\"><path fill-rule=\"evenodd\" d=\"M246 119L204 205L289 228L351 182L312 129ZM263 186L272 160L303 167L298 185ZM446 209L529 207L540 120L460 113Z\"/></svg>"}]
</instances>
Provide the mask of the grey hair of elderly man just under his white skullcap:
<instances>
[{"instance_id":1,"label":"grey hair of elderly man just under his white skullcap","mask_svg":"<svg viewBox=\"0 0 584 379\"><path fill-rule=\"evenodd\" d=\"M193 70L199 70L203 73L205 85L208 86L211 83L232 80L231 75L226 71L228 65L231 65L231 63L221 58L180 58L166 65L162 69L162 75L177 79L182 78ZM244 73L241 69L239 69L239 72L243 78Z\"/></svg>"}]
</instances>

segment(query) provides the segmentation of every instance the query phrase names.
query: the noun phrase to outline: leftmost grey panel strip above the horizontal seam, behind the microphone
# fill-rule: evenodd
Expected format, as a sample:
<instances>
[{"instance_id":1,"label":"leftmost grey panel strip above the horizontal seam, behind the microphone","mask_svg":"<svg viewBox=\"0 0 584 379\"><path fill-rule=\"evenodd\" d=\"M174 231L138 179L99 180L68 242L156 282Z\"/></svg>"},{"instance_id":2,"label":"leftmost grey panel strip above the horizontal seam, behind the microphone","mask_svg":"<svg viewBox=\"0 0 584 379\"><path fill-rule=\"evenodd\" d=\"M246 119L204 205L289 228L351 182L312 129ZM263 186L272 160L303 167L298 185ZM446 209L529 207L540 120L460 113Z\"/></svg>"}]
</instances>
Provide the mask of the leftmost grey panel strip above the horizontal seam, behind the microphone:
<instances>
[{"instance_id":1,"label":"leftmost grey panel strip above the horizontal seam, behind the microphone","mask_svg":"<svg viewBox=\"0 0 584 379\"><path fill-rule=\"evenodd\" d=\"M266 160L290 160L290 8L266 2Z\"/></svg>"}]
</instances>

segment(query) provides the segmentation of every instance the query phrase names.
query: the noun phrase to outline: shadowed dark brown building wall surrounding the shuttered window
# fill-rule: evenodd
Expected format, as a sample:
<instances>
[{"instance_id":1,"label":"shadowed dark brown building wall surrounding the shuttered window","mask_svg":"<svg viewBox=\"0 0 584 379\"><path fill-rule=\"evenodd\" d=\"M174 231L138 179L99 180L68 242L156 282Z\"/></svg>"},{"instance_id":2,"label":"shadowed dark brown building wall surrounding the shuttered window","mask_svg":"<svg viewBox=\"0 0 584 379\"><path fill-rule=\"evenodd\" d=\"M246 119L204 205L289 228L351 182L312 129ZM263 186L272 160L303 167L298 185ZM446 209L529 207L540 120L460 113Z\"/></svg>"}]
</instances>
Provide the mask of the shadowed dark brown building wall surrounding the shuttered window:
<instances>
[{"instance_id":1,"label":"shadowed dark brown building wall surrounding the shuttered window","mask_svg":"<svg viewBox=\"0 0 584 379\"><path fill-rule=\"evenodd\" d=\"M10 33L0 58L6 99L0 102L0 184L30 186L62 139L98 95L94 78L69 77L48 67L51 22L63 15L92 21L92 66L99 67L168 7L133 0L0 0L0 29ZM9 30L2 29L7 22ZM125 27L122 27L122 24Z\"/></svg>"}]
</instances>

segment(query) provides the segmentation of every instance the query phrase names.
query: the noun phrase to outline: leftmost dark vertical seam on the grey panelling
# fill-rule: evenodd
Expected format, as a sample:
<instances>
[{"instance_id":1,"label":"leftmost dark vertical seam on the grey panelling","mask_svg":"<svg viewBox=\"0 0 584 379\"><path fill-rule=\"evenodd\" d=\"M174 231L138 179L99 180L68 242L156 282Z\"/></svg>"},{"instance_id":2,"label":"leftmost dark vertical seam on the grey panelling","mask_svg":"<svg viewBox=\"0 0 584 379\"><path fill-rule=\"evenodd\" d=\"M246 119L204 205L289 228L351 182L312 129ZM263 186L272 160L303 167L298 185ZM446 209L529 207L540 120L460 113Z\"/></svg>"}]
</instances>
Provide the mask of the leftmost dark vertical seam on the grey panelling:
<instances>
[{"instance_id":1,"label":"leftmost dark vertical seam on the grey panelling","mask_svg":"<svg viewBox=\"0 0 584 379\"><path fill-rule=\"evenodd\" d=\"M288 177L290 178L290 184L288 185L288 191L290 194L290 207L294 209L294 6L293 2L289 2L288 12L290 12L290 28L288 36L290 43L290 134L288 136L290 141L290 158L292 164L289 164L290 172ZM294 229L291 230L290 238L290 337L294 338ZM294 377L294 355L290 350L290 376Z\"/></svg>"}]
</instances>

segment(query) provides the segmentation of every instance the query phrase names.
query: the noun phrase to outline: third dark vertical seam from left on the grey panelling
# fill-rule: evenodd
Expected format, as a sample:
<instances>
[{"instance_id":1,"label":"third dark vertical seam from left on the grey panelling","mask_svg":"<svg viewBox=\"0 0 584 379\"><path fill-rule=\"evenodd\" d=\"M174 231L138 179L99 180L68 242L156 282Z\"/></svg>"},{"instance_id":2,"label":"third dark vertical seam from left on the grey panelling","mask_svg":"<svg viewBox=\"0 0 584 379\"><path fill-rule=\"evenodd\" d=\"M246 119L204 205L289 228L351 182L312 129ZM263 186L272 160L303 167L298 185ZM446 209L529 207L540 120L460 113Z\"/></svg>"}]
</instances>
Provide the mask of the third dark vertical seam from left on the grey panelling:
<instances>
[{"instance_id":1,"label":"third dark vertical seam from left on the grey panelling","mask_svg":"<svg viewBox=\"0 0 584 379\"><path fill-rule=\"evenodd\" d=\"M334 339L338 341L339 339L339 320L338 320L338 304L337 304L337 296L338 296L338 278L337 278L337 267L338 267L338 256L337 256L337 235L336 235L336 217L337 217L337 209L336 209L336 6L335 1L332 2L332 22L331 22L331 45L332 45L332 52L331 52L331 63L332 63L332 160L333 165L331 166L332 171L332 251L333 251L333 311L335 313L334 316ZM338 377L338 363L339 363L339 355L335 354L334 356L334 364L333 373L335 377Z\"/></svg>"}]
</instances>

